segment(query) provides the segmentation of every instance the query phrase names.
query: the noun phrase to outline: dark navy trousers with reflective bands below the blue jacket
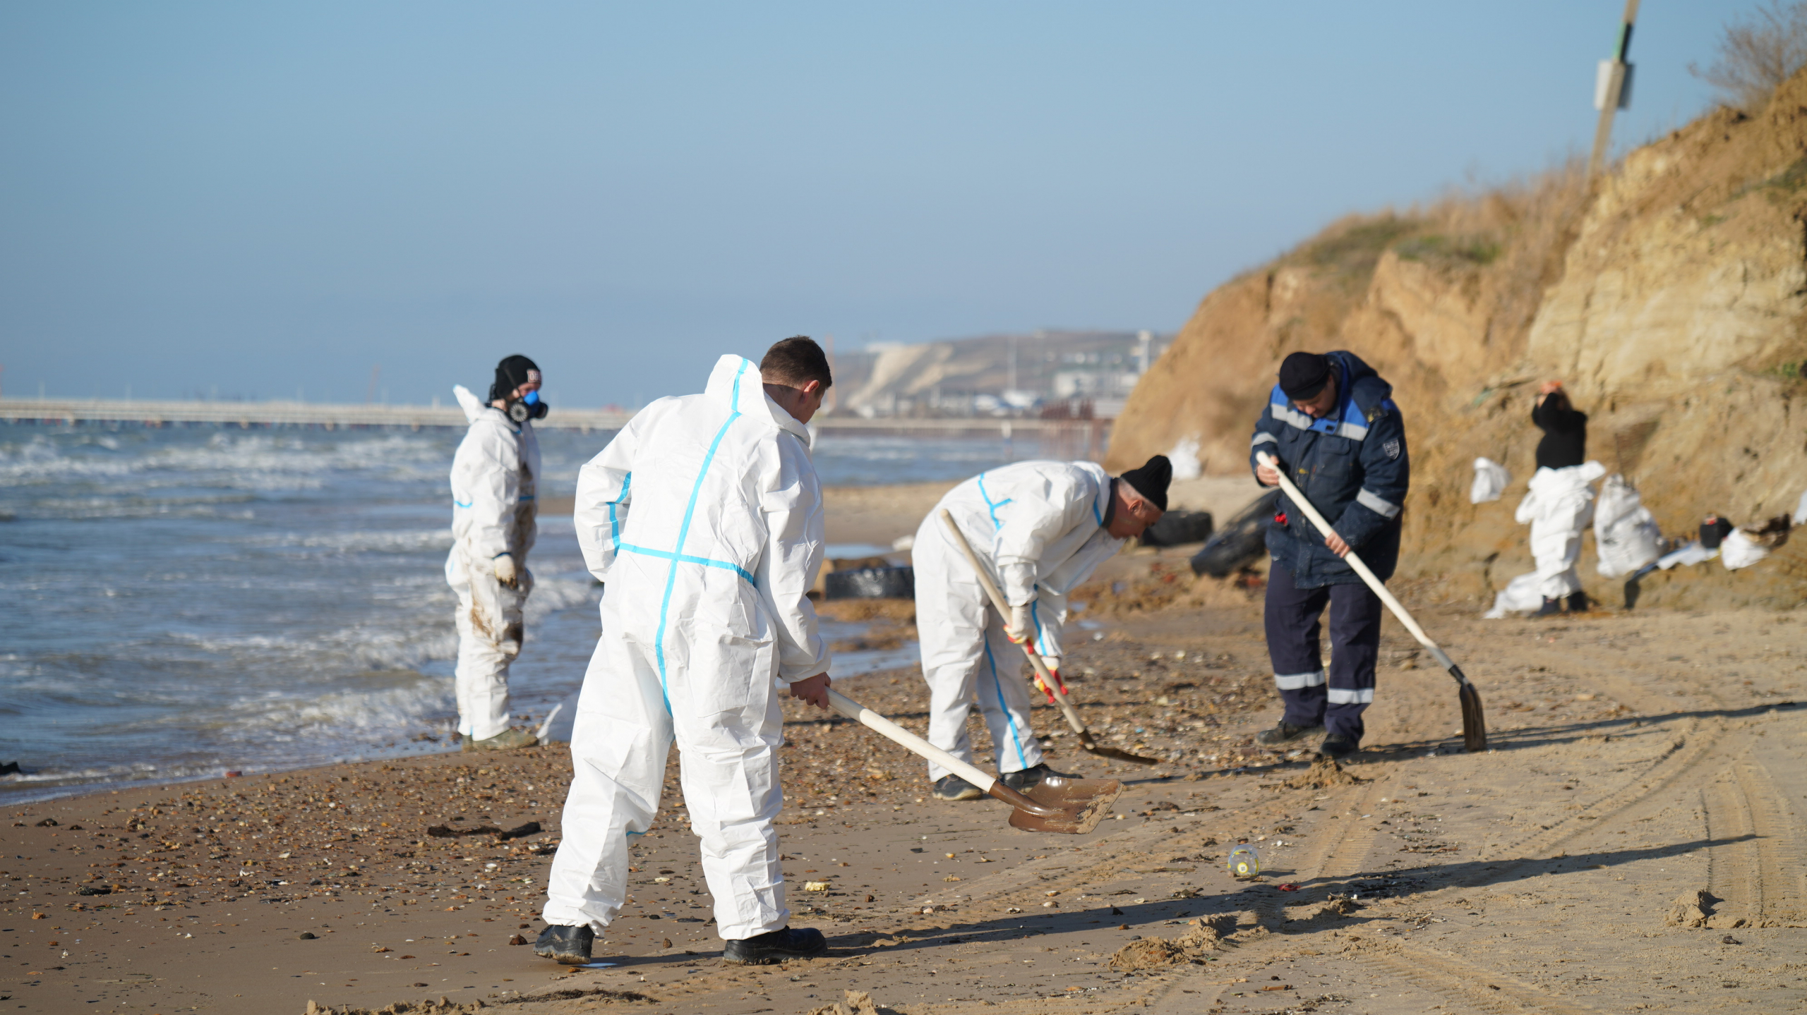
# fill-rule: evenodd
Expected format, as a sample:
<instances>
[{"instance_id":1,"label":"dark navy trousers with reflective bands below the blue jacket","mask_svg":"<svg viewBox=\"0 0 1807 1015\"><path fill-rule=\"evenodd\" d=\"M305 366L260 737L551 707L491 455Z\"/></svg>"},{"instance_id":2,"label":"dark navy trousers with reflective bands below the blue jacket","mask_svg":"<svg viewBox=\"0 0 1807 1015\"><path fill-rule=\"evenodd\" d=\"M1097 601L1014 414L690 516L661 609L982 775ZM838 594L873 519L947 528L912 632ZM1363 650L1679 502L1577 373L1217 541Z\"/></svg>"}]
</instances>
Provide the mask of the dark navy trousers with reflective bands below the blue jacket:
<instances>
[{"instance_id":1,"label":"dark navy trousers with reflective bands below the blue jacket","mask_svg":"<svg viewBox=\"0 0 1807 1015\"><path fill-rule=\"evenodd\" d=\"M1317 647L1330 603L1330 674ZM1317 726L1361 742L1361 713L1373 703L1373 663L1381 654L1381 596L1366 585L1296 589L1279 563L1267 576L1267 656L1287 703L1281 722Z\"/></svg>"}]
</instances>

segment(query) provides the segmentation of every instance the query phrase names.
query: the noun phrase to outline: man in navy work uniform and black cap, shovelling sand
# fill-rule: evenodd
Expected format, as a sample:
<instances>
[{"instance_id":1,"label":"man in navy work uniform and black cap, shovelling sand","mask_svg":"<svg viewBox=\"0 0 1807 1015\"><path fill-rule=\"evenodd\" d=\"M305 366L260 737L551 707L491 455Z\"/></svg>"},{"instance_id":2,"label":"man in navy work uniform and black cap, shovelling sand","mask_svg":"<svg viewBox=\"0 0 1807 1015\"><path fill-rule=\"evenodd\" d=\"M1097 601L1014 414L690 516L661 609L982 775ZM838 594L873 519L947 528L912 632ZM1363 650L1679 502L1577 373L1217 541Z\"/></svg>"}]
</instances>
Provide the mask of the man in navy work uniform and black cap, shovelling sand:
<instances>
[{"instance_id":1,"label":"man in navy work uniform and black cap, shovelling sand","mask_svg":"<svg viewBox=\"0 0 1807 1015\"><path fill-rule=\"evenodd\" d=\"M1279 475L1256 461L1279 459L1294 486L1330 522L1319 533L1281 495L1267 529L1267 652L1287 710L1256 740L1269 748L1325 735L1319 753L1361 748L1361 713L1373 703L1381 650L1381 598L1343 558L1355 551L1384 582L1399 563L1399 511L1411 484L1406 426L1388 385L1353 352L1294 352L1254 424L1249 464L1261 486ZM1330 674L1317 645L1330 605Z\"/></svg>"}]
</instances>

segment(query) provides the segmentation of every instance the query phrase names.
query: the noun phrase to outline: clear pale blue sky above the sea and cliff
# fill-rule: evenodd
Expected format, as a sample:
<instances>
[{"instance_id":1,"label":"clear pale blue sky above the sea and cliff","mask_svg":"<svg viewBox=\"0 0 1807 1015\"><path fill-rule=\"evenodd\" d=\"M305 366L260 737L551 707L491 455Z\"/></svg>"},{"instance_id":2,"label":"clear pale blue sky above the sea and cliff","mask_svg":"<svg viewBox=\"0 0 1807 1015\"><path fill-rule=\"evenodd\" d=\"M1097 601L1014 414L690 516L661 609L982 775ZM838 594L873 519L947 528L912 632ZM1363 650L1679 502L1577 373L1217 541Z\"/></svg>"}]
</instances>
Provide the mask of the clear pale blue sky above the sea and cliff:
<instances>
[{"instance_id":1,"label":"clear pale blue sky above the sea and cliff","mask_svg":"<svg viewBox=\"0 0 1807 1015\"><path fill-rule=\"evenodd\" d=\"M1755 4L1652 0L1619 148ZM9 396L566 405L786 334L1178 329L1592 141L1621 0L0 7Z\"/></svg>"}]
</instances>

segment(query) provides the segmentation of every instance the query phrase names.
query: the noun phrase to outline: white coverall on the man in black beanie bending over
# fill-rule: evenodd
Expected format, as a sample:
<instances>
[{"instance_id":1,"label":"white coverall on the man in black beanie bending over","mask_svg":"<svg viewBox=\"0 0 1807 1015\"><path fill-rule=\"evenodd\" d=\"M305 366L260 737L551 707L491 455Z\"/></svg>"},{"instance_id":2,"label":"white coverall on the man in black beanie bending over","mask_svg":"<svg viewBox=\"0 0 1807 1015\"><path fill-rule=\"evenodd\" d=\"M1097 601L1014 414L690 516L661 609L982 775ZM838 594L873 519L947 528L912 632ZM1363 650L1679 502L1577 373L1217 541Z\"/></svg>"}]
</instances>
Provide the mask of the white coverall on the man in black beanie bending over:
<instances>
[{"instance_id":1,"label":"white coverall on the man in black beanie bending over","mask_svg":"<svg viewBox=\"0 0 1807 1015\"><path fill-rule=\"evenodd\" d=\"M1111 477L1091 462L1016 462L979 473L941 497L916 529L916 630L929 681L929 742L972 762L967 715L979 712L997 748L997 771L1041 764L1030 730L1023 648L1005 636L972 563L941 522L947 508L990 569L1005 600L1030 603L1034 643L1059 663L1066 594L1124 540L1104 531ZM929 778L947 769L929 764Z\"/></svg>"}]
</instances>

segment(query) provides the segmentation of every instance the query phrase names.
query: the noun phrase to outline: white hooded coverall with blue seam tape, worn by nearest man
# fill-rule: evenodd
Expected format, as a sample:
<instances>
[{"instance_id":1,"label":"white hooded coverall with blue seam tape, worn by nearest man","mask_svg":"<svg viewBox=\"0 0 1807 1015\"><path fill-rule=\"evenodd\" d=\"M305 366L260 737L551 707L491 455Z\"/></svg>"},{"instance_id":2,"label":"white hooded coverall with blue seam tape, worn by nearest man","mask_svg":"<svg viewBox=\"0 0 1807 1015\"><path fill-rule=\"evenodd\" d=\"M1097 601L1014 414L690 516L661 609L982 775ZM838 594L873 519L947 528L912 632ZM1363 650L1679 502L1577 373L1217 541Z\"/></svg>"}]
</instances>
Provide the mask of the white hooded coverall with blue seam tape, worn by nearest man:
<instances>
[{"instance_id":1,"label":"white hooded coverall with blue seam tape, worn by nearest man","mask_svg":"<svg viewBox=\"0 0 1807 1015\"><path fill-rule=\"evenodd\" d=\"M640 410L576 480L576 538L605 585L571 730L546 923L598 936L627 899L629 836L678 740L723 939L781 930L779 686L828 670L806 598L822 565L810 432L723 356L699 396Z\"/></svg>"}]
</instances>

